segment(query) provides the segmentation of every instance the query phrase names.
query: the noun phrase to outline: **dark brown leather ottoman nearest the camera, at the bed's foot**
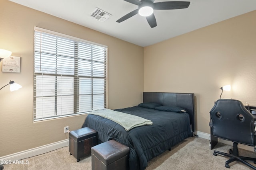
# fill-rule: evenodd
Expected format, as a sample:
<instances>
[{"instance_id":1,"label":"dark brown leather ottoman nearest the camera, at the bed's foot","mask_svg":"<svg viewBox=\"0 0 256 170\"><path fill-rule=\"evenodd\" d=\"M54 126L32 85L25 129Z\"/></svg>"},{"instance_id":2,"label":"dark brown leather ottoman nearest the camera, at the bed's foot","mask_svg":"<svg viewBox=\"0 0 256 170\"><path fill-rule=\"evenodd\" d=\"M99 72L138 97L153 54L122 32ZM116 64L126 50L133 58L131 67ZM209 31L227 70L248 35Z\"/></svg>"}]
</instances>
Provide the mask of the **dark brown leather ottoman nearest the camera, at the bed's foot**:
<instances>
[{"instance_id":1,"label":"dark brown leather ottoman nearest the camera, at the bed's foot","mask_svg":"<svg viewBox=\"0 0 256 170\"><path fill-rule=\"evenodd\" d=\"M110 140L91 148L92 170L128 170L129 147Z\"/></svg>"}]
</instances>

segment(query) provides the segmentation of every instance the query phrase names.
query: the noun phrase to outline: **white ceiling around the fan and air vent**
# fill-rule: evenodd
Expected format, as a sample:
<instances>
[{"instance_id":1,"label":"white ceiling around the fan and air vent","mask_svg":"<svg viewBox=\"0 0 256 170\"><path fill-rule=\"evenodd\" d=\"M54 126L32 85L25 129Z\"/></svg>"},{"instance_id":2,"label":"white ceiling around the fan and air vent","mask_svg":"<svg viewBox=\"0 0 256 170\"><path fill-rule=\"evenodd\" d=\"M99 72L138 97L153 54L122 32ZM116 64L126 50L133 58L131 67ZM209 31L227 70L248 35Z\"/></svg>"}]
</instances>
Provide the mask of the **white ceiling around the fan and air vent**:
<instances>
[{"instance_id":1,"label":"white ceiling around the fan and air vent","mask_svg":"<svg viewBox=\"0 0 256 170\"><path fill-rule=\"evenodd\" d=\"M138 8L124 0L10 0L79 25L106 33L142 47L217 23L253 10L256 0L184 0L190 6L179 10L155 10L157 26L151 28L145 17L116 20ZM155 0L163 2L171 0ZM100 8L112 16L101 22L90 15ZM239 23L238 23L239 24Z\"/></svg>"}]
</instances>

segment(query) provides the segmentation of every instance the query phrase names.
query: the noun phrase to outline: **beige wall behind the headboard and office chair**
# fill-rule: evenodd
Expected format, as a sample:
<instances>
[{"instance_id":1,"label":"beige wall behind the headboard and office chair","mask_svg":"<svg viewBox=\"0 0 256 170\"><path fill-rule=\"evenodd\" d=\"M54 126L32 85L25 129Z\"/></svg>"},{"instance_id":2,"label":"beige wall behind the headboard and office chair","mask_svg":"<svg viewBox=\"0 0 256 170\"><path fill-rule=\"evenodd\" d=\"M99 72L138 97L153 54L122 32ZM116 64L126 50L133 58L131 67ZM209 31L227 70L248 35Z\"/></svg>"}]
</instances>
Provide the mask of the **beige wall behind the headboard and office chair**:
<instances>
[{"instance_id":1,"label":"beige wall behind the headboard and office chair","mask_svg":"<svg viewBox=\"0 0 256 170\"><path fill-rule=\"evenodd\" d=\"M209 111L222 98L256 106L256 11L144 48L144 91L196 96L196 130L210 133Z\"/></svg>"}]
</instances>

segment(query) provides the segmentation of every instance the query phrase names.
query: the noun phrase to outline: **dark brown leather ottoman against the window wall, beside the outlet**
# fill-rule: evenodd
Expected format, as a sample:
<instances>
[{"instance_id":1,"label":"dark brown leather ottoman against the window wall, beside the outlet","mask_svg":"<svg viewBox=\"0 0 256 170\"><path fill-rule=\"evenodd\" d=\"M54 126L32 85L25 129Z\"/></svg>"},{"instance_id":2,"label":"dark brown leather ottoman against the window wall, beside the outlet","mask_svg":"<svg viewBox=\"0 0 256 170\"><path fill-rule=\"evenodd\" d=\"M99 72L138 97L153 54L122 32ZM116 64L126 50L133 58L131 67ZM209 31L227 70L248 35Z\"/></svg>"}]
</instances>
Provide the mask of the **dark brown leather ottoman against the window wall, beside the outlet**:
<instances>
[{"instance_id":1,"label":"dark brown leather ottoman against the window wall, beside the outlet","mask_svg":"<svg viewBox=\"0 0 256 170\"><path fill-rule=\"evenodd\" d=\"M97 145L97 142L97 132L89 127L84 127L70 131L68 150L79 162L80 158L91 154L91 147Z\"/></svg>"}]
</instances>

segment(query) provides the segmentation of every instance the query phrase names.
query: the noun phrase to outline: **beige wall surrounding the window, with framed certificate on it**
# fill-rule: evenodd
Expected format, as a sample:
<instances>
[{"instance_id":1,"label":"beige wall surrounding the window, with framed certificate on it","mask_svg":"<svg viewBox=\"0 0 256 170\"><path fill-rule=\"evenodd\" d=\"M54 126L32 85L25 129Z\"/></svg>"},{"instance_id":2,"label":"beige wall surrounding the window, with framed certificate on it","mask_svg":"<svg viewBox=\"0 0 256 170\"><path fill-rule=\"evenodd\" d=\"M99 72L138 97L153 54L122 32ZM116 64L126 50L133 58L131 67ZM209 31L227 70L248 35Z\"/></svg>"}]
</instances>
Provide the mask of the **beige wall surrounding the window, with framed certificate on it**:
<instances>
[{"instance_id":1,"label":"beige wall surrounding the window, with framed certificate on it","mask_svg":"<svg viewBox=\"0 0 256 170\"><path fill-rule=\"evenodd\" d=\"M107 45L108 107L128 107L142 102L142 47L8 0L0 0L0 48L21 57L20 73L0 71L0 87L10 80L23 86L15 92L10 92L9 87L0 91L0 157L68 139L64 126L69 126L70 130L78 129L86 117L81 115L33 123L34 26Z\"/></svg>"}]
</instances>

